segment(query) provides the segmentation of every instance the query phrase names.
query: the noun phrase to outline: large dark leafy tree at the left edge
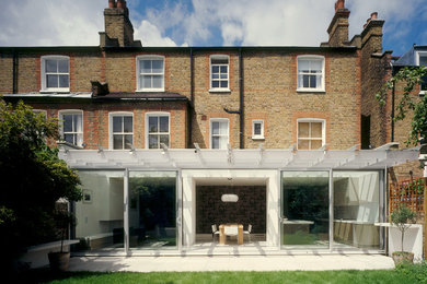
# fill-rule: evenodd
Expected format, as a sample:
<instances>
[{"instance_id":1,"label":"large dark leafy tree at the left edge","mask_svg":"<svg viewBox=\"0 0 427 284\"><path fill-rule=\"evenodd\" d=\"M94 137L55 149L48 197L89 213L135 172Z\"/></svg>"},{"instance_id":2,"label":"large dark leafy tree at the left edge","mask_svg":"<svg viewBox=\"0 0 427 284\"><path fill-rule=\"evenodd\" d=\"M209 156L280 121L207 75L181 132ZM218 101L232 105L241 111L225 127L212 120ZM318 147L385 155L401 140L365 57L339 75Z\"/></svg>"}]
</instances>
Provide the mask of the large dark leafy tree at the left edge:
<instances>
[{"instance_id":1,"label":"large dark leafy tree at the left edge","mask_svg":"<svg viewBox=\"0 0 427 284\"><path fill-rule=\"evenodd\" d=\"M57 119L0 99L0 244L7 263L27 246L55 240L57 201L82 197L77 173L47 143L58 137Z\"/></svg>"}]
</instances>

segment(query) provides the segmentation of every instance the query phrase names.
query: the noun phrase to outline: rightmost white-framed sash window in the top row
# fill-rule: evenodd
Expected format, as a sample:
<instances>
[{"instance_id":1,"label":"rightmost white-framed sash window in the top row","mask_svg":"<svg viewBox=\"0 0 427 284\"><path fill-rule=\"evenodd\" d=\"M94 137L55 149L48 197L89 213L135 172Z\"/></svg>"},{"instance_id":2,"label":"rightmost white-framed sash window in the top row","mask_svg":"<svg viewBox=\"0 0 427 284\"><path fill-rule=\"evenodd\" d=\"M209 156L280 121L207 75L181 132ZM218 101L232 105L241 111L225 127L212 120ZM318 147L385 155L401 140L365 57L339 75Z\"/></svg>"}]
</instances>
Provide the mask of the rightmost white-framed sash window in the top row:
<instances>
[{"instance_id":1,"label":"rightmost white-framed sash window in the top row","mask_svg":"<svg viewBox=\"0 0 427 284\"><path fill-rule=\"evenodd\" d=\"M325 58L323 56L297 57L297 91L325 91Z\"/></svg>"}]
</instances>

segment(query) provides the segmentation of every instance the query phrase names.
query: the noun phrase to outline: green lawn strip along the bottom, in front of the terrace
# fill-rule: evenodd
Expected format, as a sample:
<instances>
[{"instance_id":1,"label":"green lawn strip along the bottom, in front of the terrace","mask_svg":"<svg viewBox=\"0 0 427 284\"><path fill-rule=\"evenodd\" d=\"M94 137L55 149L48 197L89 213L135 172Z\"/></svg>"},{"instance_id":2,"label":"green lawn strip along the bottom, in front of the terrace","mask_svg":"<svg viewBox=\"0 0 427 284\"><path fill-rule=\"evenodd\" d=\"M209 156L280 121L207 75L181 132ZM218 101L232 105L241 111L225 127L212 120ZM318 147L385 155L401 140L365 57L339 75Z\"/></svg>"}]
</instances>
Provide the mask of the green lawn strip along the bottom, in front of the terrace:
<instances>
[{"instance_id":1,"label":"green lawn strip along the bottom, in front of the terrace","mask_svg":"<svg viewBox=\"0 0 427 284\"><path fill-rule=\"evenodd\" d=\"M164 273L94 273L51 274L35 270L22 275L20 283L427 283L427 265L402 267L376 271L320 272L164 272Z\"/></svg>"}]
</instances>

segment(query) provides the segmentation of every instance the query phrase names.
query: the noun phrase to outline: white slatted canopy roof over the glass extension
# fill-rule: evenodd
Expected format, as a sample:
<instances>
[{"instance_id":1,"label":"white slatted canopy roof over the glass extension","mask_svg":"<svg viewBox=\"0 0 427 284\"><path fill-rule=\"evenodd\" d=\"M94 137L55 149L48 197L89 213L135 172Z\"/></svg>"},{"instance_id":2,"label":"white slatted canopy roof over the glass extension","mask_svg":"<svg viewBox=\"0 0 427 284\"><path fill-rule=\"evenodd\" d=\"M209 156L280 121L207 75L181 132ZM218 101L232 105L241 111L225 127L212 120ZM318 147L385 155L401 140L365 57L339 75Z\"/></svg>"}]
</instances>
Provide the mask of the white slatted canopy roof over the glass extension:
<instances>
[{"instance_id":1,"label":"white slatted canopy roof over the glass extension","mask_svg":"<svg viewBox=\"0 0 427 284\"><path fill-rule=\"evenodd\" d=\"M419 147L389 150L292 149L157 149L157 150L66 150L59 157L72 168L135 169L384 169L418 158Z\"/></svg>"}]
</instances>

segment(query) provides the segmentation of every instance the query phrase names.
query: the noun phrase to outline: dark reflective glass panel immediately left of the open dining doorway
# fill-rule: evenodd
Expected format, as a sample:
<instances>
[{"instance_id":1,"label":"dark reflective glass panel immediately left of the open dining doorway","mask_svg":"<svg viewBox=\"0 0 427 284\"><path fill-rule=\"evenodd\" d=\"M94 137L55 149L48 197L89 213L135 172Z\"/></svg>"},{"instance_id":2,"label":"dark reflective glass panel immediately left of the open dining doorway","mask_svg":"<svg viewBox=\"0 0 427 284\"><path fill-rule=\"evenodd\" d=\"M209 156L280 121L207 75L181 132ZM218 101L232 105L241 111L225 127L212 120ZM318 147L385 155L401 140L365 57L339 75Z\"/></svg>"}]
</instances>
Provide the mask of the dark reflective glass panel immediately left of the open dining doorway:
<instances>
[{"instance_id":1,"label":"dark reflective glass panel immediately left of the open dining doorway","mask_svg":"<svg viewBox=\"0 0 427 284\"><path fill-rule=\"evenodd\" d=\"M130 249L176 248L176 171L129 171Z\"/></svg>"}]
</instances>

